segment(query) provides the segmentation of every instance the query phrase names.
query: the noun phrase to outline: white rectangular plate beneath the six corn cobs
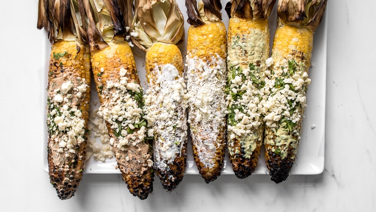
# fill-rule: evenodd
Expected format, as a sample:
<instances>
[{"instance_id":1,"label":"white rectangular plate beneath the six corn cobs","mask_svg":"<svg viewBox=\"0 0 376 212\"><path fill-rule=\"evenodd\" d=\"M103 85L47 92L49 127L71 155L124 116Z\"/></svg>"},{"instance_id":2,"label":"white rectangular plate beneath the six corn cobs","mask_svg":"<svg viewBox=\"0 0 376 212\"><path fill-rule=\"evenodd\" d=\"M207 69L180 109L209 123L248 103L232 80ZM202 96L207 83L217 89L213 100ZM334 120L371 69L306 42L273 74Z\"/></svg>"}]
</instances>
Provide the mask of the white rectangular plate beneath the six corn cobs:
<instances>
[{"instance_id":1,"label":"white rectangular plate beneath the six corn cobs","mask_svg":"<svg viewBox=\"0 0 376 212\"><path fill-rule=\"evenodd\" d=\"M179 7L187 20L186 7L184 1L178 1ZM222 0L222 5L225 7L227 1ZM277 3L274 6L271 16L269 17L269 26L271 30L271 45L273 42L274 33L277 27ZM229 18L224 10L222 10L223 22L228 26ZM187 38L188 23L185 22L185 32ZM50 45L48 43L47 36L43 38L43 64L44 64L44 79L42 80L42 105L47 104L47 72L48 72L48 60L50 54ZM183 57L185 57L186 42L180 46ZM139 71L141 84L146 88L146 78L144 71L144 53L134 49L134 56L136 59L136 65ZM310 175L320 174L324 170L324 151L325 151L325 101L326 101L326 70L327 70L327 11L324 14L321 25L314 34L314 46L311 58L311 67L309 71L312 83L308 87L307 91L307 104L308 107L305 111L305 118L303 120L302 135L299 146L297 159L295 165L292 167L291 174ZM92 80L94 81L94 80ZM93 86L92 86L93 87ZM94 87L93 87L94 88ZM92 89L95 90L95 89ZM91 103L98 102L96 91L92 92ZM92 104L93 106L93 104ZM45 114L45 108L43 107L43 114ZM44 120L46 120L46 115ZM47 164L47 126L43 123L43 138L42 138L42 154L43 154L43 169L48 171ZM188 132L189 133L189 132ZM189 136L188 136L189 137ZM193 160L191 143L188 139L188 152L187 152L187 168L186 174L198 174L198 170ZM104 162L96 161L94 157L91 157L86 162L85 173L120 173L118 169L115 169L116 160L106 159ZM226 153L222 174L234 174L231 163L229 161L228 154ZM268 174L265 164L264 150L261 152L261 159L257 168L253 174Z\"/></svg>"}]
</instances>

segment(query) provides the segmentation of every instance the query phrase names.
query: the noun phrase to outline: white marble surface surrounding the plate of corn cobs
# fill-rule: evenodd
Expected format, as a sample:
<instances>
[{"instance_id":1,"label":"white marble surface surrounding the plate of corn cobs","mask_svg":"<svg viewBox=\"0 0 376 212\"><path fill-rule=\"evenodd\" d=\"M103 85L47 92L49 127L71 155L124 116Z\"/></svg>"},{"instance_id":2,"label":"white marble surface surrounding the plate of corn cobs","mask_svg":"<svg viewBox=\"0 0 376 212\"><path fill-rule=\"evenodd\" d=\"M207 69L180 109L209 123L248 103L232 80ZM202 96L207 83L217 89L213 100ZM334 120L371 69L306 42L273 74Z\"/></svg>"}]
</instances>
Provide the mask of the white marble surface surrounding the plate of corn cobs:
<instances>
[{"instance_id":1,"label":"white marble surface surrounding the plate of corn cobs","mask_svg":"<svg viewBox=\"0 0 376 212\"><path fill-rule=\"evenodd\" d=\"M223 2L225 2L223 0ZM37 0L2 2L0 12L0 212L376 210L376 1L329 0L325 169L275 184L268 175L222 175L205 184L186 175L176 191L155 179L140 201L120 174L86 174L61 201L42 169L42 48Z\"/></svg>"}]
</instances>

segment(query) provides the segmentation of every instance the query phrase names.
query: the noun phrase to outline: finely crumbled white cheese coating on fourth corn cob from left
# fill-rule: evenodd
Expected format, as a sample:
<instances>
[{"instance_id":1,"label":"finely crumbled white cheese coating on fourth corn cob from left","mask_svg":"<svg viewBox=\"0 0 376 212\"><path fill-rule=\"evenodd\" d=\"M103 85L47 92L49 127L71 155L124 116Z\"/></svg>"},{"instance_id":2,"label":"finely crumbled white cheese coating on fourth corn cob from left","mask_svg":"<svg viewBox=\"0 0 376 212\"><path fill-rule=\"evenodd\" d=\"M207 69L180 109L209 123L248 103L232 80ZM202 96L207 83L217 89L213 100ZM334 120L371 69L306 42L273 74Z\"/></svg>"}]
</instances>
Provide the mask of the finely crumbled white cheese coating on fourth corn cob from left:
<instances>
[{"instance_id":1,"label":"finely crumbled white cheese coating on fourth corn cob from left","mask_svg":"<svg viewBox=\"0 0 376 212\"><path fill-rule=\"evenodd\" d=\"M216 162L217 141L224 137L227 100L226 62L218 54L207 56L206 61L188 53L186 66L188 96L188 123L197 157L207 167Z\"/></svg>"}]
</instances>

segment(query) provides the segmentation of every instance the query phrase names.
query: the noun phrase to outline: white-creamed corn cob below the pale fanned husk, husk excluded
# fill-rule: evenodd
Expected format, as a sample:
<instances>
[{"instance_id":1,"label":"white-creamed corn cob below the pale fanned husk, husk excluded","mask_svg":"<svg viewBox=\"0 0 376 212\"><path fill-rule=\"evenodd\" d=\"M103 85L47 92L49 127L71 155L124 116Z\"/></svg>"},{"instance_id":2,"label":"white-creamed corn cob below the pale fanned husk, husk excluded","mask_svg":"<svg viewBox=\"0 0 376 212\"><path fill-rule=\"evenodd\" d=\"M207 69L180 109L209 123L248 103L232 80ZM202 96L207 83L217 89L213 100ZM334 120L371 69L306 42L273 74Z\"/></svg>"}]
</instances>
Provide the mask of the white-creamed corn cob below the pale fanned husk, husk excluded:
<instances>
[{"instance_id":1,"label":"white-creamed corn cob below the pale fanned husk, husk excluded","mask_svg":"<svg viewBox=\"0 0 376 212\"><path fill-rule=\"evenodd\" d=\"M146 52L145 118L154 136L154 168L163 188L171 191L186 168L187 120L183 58L173 44L156 43Z\"/></svg>"}]
</instances>

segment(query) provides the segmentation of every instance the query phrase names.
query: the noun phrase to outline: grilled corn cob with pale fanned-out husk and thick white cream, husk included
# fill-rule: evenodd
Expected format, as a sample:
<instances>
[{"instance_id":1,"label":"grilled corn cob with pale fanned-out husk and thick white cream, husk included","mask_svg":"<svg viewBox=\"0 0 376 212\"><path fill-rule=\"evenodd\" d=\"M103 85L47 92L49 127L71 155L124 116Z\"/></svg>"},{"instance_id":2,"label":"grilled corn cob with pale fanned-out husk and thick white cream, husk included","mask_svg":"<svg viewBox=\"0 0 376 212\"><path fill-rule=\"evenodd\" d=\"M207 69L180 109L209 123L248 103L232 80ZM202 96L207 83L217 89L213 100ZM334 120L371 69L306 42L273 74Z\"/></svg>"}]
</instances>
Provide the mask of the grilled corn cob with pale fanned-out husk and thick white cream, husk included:
<instances>
[{"instance_id":1,"label":"grilled corn cob with pale fanned-out husk and thick white cream, husk included","mask_svg":"<svg viewBox=\"0 0 376 212\"><path fill-rule=\"evenodd\" d=\"M146 52L144 112L152 126L148 135L154 137L154 168L171 191L184 177L187 155L184 64L176 46L183 40L183 16L175 0L140 0L136 8L132 38Z\"/></svg>"}]
</instances>

